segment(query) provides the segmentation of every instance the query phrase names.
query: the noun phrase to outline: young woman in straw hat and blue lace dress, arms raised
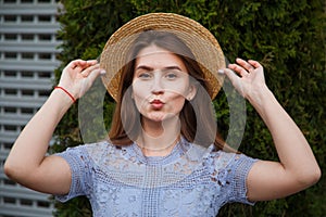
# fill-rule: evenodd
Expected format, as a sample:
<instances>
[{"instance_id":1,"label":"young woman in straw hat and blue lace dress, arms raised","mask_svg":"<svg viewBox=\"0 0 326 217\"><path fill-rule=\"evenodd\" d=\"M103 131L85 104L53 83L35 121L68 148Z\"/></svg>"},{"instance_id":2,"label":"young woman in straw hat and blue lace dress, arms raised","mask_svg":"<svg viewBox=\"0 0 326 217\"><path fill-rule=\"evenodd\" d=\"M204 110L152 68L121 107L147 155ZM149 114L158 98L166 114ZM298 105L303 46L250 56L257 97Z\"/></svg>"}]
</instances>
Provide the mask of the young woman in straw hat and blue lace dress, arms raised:
<instances>
[{"instance_id":1,"label":"young woman in straw hat and blue lace dress, arms raised","mask_svg":"<svg viewBox=\"0 0 326 217\"><path fill-rule=\"evenodd\" d=\"M256 61L225 68L215 38L176 14L137 17L118 29L97 61L72 61L58 88L26 125L5 174L66 201L90 200L93 216L215 216L230 202L253 204L301 191L321 177L309 143L276 101ZM116 100L110 140L46 152L75 99L102 77ZM211 99L224 74L268 127L279 162L227 148ZM234 73L235 72L235 73Z\"/></svg>"}]
</instances>

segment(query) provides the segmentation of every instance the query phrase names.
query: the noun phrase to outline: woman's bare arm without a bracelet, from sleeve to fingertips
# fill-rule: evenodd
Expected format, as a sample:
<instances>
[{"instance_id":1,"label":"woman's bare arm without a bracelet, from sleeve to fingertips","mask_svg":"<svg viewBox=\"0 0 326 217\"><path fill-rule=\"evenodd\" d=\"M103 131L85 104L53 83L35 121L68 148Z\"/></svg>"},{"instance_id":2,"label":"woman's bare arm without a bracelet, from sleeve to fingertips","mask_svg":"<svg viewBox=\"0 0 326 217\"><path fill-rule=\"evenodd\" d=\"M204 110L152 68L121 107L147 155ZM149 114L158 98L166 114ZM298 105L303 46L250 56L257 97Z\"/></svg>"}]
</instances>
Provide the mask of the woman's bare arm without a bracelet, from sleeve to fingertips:
<instances>
[{"instance_id":1,"label":"woman's bare arm without a bracelet, from sleeve to fingertips","mask_svg":"<svg viewBox=\"0 0 326 217\"><path fill-rule=\"evenodd\" d=\"M279 162L259 161L248 175L248 199L266 201L301 191L321 177L321 169L301 130L277 102L256 61L237 59L225 74L253 105L269 129Z\"/></svg>"}]
</instances>

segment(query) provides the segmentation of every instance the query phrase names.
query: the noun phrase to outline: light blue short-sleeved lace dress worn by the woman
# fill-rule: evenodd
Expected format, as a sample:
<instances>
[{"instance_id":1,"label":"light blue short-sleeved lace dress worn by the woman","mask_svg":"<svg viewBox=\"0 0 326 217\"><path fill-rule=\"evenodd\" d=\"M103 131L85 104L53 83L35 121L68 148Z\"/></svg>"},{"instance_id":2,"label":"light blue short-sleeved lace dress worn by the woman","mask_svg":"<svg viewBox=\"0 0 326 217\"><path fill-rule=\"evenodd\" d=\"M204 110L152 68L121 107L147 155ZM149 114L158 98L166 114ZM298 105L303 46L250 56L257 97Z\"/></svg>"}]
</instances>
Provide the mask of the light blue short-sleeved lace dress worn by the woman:
<instances>
[{"instance_id":1,"label":"light blue short-sleeved lace dress worn by the woman","mask_svg":"<svg viewBox=\"0 0 326 217\"><path fill-rule=\"evenodd\" d=\"M213 151L181 139L167 156L142 154L137 144L85 144L58 154L72 170L65 202L86 195L96 217L214 217L226 203L251 204L246 179L256 159Z\"/></svg>"}]
</instances>

